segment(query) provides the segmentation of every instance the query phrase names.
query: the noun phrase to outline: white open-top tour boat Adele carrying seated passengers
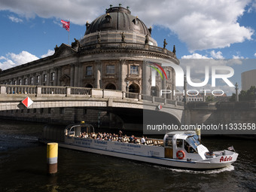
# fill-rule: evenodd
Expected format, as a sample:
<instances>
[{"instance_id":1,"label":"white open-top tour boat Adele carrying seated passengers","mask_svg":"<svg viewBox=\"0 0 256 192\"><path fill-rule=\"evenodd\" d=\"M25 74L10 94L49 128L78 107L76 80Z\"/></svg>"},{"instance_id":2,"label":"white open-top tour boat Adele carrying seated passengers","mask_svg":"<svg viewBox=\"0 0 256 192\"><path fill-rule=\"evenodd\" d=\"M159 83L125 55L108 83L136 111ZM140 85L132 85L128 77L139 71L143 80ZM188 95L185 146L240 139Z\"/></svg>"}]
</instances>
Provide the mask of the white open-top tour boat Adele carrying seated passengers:
<instances>
[{"instance_id":1,"label":"white open-top tour boat Adele carrying seated passengers","mask_svg":"<svg viewBox=\"0 0 256 192\"><path fill-rule=\"evenodd\" d=\"M230 166L238 157L236 152L230 150L209 151L200 143L195 131L166 133L163 139L145 139L145 144L142 144L141 138L136 138L136 143L130 143L126 136L111 141L89 136L81 138L84 132L94 133L93 126L72 124L66 127L64 133L62 130L63 136L58 136L56 130L48 129L44 130L43 142L55 140L63 148L183 169L220 169Z\"/></svg>"}]
</instances>

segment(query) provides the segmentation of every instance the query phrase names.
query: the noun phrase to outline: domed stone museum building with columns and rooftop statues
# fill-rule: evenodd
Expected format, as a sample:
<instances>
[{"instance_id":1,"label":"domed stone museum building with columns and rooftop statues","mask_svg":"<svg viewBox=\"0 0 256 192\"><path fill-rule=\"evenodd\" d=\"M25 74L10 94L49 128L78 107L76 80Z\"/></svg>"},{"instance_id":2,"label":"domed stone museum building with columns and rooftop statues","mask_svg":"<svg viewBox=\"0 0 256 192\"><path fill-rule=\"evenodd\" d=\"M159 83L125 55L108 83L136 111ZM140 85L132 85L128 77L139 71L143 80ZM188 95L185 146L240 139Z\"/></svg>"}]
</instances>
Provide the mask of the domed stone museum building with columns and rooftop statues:
<instances>
[{"instance_id":1,"label":"domed stone museum building with columns and rooftop statues","mask_svg":"<svg viewBox=\"0 0 256 192\"><path fill-rule=\"evenodd\" d=\"M164 69L166 78L157 73L156 86L151 87L154 69L148 67L151 63L178 65L175 47L172 52L166 50L166 41L157 47L151 28L128 8L108 8L87 22L86 28L80 40L56 45L52 56L2 71L0 84L90 87L154 96L159 96L160 89L175 90L172 68Z\"/></svg>"}]
</instances>

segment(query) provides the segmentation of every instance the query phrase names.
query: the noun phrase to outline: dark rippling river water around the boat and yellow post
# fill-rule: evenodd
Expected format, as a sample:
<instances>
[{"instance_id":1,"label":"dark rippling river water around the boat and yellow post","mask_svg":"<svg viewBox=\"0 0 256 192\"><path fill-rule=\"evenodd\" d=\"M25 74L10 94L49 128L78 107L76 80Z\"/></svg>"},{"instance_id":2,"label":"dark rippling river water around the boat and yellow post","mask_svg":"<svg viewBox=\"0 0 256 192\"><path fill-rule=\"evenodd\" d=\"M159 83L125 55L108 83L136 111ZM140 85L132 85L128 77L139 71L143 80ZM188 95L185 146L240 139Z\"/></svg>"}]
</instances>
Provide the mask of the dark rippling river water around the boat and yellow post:
<instances>
[{"instance_id":1,"label":"dark rippling river water around the boat and yellow post","mask_svg":"<svg viewBox=\"0 0 256 192\"><path fill-rule=\"evenodd\" d=\"M0 120L0 191L256 191L256 142L203 138L210 150L231 145L238 160L225 169L170 169L59 148L58 173L47 175L44 124Z\"/></svg>"}]
</instances>

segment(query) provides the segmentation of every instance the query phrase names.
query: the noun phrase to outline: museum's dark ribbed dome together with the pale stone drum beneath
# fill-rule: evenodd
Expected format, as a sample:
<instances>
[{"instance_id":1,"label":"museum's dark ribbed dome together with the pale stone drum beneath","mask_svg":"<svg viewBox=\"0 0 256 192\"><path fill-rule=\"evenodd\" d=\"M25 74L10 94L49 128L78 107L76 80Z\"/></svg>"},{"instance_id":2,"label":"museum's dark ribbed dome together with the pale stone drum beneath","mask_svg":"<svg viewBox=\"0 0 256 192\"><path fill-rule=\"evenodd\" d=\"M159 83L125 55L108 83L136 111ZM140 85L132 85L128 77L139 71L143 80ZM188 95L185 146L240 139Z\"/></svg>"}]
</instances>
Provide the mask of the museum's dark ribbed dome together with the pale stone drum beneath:
<instances>
[{"instance_id":1,"label":"museum's dark ribbed dome together with the pale stone drum beneath","mask_svg":"<svg viewBox=\"0 0 256 192\"><path fill-rule=\"evenodd\" d=\"M151 28L138 17L131 15L130 10L122 7L111 7L106 9L105 14L86 23L87 29L81 38L81 46L99 43L115 43L125 41L126 43L148 44L157 46L157 41L151 38ZM122 40L123 38L123 40Z\"/></svg>"}]
</instances>

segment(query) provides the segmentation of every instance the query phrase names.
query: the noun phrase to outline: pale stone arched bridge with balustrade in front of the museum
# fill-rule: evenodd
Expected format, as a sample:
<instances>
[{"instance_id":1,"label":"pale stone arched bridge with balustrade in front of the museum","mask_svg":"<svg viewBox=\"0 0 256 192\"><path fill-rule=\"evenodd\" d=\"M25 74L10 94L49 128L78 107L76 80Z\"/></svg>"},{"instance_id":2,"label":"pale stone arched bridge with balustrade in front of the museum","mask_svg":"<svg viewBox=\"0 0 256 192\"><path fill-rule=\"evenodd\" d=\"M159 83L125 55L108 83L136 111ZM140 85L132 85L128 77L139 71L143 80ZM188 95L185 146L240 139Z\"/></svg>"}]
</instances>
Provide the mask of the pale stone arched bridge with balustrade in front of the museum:
<instances>
[{"instance_id":1,"label":"pale stone arched bridge with balustrade in front of the museum","mask_svg":"<svg viewBox=\"0 0 256 192\"><path fill-rule=\"evenodd\" d=\"M124 123L134 117L142 123L145 111L157 117L166 117L175 124L184 123L184 103L174 100L129 93L120 90L102 90L84 87L52 87L28 85L0 85L0 111L24 110L21 103L29 96L30 108L90 108L117 114ZM162 108L159 108L161 105ZM144 116L145 117L145 116Z\"/></svg>"}]
</instances>

